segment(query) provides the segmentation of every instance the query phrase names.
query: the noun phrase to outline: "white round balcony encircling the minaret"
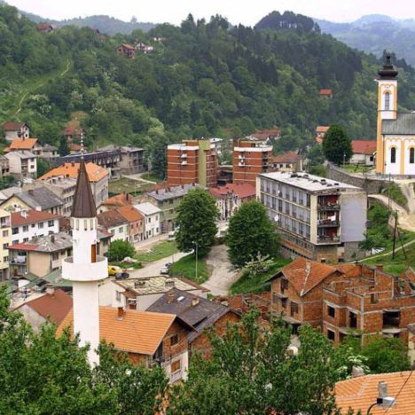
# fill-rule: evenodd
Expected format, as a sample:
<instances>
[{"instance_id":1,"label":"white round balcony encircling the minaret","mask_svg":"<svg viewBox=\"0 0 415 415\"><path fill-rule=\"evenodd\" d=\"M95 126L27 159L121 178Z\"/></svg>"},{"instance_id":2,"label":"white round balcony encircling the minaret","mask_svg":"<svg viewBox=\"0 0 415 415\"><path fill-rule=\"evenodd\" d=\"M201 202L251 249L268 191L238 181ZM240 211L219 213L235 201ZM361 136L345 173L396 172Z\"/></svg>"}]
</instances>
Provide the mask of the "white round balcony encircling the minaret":
<instances>
[{"instance_id":1,"label":"white round balcony encircling the minaret","mask_svg":"<svg viewBox=\"0 0 415 415\"><path fill-rule=\"evenodd\" d=\"M62 278L69 281L100 281L108 277L108 260L105 256L97 256L97 262L75 263L73 256L62 262Z\"/></svg>"}]
</instances>

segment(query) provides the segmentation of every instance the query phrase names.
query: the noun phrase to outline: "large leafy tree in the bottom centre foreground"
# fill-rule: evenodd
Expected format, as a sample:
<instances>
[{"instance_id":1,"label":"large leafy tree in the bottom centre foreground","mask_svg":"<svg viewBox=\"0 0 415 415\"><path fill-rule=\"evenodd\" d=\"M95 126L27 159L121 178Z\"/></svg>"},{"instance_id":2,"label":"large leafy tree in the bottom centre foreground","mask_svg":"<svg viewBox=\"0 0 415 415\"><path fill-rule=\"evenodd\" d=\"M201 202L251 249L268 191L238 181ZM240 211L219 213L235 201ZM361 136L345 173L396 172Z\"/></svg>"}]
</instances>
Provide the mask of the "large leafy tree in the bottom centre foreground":
<instances>
[{"instance_id":1,"label":"large leafy tree in the bottom centre foreground","mask_svg":"<svg viewBox=\"0 0 415 415\"><path fill-rule=\"evenodd\" d=\"M212 357L192 356L188 380L173 388L168 413L334 413L339 365L331 341L308 325L298 354L286 353L291 328L272 322L269 331L251 309L223 335L208 331ZM349 374L349 373L348 373Z\"/></svg>"}]
</instances>

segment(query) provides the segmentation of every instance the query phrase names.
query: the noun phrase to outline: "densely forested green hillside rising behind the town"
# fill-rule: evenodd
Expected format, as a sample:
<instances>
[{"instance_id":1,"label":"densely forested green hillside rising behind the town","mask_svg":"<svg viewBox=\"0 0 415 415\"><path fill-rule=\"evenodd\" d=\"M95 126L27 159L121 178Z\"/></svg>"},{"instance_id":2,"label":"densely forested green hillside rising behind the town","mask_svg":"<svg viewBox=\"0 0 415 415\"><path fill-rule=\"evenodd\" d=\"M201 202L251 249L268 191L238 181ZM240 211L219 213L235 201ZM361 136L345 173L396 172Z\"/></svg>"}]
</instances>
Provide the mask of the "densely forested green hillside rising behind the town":
<instances>
[{"instance_id":1,"label":"densely forested green hillside rising behind the town","mask_svg":"<svg viewBox=\"0 0 415 415\"><path fill-rule=\"evenodd\" d=\"M57 145L77 118L90 148L142 145L153 161L185 137L238 137L274 125L282 128L281 150L312 143L316 126L330 123L373 138L380 61L320 34L304 16L267 18L256 28L189 15L180 27L147 33L103 36L69 26L43 34L0 6L0 121L27 121L32 137ZM128 59L115 51L137 42L153 53ZM402 108L415 97L406 68ZM333 99L319 98L321 88L332 89Z\"/></svg>"}]
</instances>

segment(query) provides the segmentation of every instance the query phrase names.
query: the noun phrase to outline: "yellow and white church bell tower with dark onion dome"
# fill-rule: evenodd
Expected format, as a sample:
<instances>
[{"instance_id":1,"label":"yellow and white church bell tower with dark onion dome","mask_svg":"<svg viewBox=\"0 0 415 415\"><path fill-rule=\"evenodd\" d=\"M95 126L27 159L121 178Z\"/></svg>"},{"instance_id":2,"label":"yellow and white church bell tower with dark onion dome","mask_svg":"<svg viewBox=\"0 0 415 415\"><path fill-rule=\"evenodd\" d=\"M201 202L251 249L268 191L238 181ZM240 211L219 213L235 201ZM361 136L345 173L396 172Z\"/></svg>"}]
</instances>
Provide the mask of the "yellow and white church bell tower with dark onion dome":
<instances>
[{"instance_id":1,"label":"yellow and white church bell tower with dark onion dome","mask_svg":"<svg viewBox=\"0 0 415 415\"><path fill-rule=\"evenodd\" d=\"M382 135L382 122L396 120L397 116L397 71L387 55L385 64L378 72L378 124L376 143L376 173L386 174L387 150Z\"/></svg>"}]
</instances>

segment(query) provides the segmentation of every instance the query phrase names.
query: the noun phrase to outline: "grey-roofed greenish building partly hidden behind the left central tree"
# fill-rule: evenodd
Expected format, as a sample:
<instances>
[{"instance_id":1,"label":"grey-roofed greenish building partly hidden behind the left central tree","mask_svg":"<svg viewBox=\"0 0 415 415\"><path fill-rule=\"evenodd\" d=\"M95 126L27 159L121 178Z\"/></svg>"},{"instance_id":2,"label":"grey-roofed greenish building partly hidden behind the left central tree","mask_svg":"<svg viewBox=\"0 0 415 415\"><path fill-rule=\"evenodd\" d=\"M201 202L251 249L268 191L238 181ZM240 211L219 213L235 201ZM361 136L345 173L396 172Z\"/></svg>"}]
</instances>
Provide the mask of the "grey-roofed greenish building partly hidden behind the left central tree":
<instances>
[{"instance_id":1,"label":"grey-roofed greenish building partly hidden behind the left central tree","mask_svg":"<svg viewBox=\"0 0 415 415\"><path fill-rule=\"evenodd\" d=\"M204 189L200 184L181 184L146 193L148 200L161 210L161 233L175 231L177 207L182 202L184 196L196 187Z\"/></svg>"}]
</instances>

